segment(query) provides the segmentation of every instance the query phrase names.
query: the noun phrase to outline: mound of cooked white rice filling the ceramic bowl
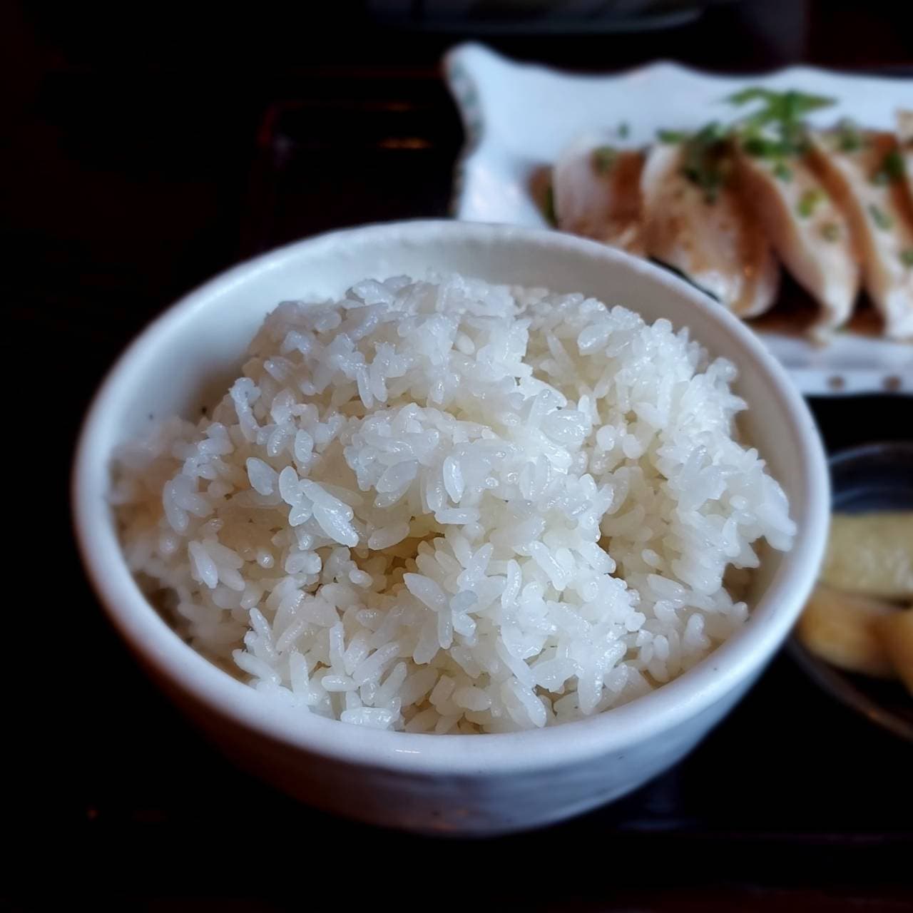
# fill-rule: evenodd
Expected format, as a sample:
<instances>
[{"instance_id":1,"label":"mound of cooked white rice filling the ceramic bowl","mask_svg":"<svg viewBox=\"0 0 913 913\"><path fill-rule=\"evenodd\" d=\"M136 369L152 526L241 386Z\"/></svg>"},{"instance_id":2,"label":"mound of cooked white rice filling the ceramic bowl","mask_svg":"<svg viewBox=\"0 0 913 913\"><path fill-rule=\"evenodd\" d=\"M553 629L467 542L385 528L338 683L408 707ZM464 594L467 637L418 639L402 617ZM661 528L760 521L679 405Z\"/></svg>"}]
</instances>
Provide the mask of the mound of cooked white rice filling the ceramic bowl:
<instances>
[{"instance_id":1,"label":"mound of cooked white rice filling the ceramic bowl","mask_svg":"<svg viewBox=\"0 0 913 913\"><path fill-rule=\"evenodd\" d=\"M398 277L280 304L249 354L210 417L122 448L112 498L178 631L302 713L591 716L738 630L724 573L790 547L736 368L667 320Z\"/></svg>"}]
</instances>

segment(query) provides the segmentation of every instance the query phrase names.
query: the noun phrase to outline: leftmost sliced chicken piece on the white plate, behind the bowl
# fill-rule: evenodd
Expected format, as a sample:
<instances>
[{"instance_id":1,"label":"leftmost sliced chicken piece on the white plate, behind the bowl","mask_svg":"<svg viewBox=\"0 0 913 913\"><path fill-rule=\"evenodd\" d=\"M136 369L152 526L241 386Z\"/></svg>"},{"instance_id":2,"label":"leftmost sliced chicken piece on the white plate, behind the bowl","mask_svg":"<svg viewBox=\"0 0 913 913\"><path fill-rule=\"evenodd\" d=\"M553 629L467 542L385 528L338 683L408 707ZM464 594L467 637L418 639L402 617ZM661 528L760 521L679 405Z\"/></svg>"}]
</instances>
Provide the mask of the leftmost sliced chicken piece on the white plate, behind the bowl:
<instances>
[{"instance_id":1,"label":"leftmost sliced chicken piece on the white plate, behind the bowl","mask_svg":"<svg viewBox=\"0 0 913 913\"><path fill-rule=\"evenodd\" d=\"M561 153L552 172L561 231L642 255L640 173L644 155L584 136Z\"/></svg>"}]
</instances>

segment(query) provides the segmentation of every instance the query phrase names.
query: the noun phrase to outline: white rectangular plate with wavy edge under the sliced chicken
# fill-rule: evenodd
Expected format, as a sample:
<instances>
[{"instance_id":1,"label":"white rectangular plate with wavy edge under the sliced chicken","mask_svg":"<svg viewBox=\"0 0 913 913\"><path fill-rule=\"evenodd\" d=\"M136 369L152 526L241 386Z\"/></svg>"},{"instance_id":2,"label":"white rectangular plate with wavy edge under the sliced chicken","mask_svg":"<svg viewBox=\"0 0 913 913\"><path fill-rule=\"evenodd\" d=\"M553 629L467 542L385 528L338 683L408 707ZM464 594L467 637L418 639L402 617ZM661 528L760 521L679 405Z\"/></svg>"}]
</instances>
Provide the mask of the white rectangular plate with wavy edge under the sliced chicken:
<instances>
[{"instance_id":1,"label":"white rectangular plate with wavy edge under the sliced chicken","mask_svg":"<svg viewBox=\"0 0 913 913\"><path fill-rule=\"evenodd\" d=\"M746 86L799 89L833 97L810 118L827 126L842 117L894 129L899 107L913 107L913 79L846 76L792 67L752 77L721 77L655 63L613 76L574 76L519 64L487 47L460 45L446 57L446 79L467 134L457 167L454 215L477 222L546 226L530 191L565 144L582 132L619 131L619 144L655 142L656 130L687 130L726 120L723 100ZM913 392L913 346L855 326L824 347L788 321L759 335L792 373L804 394Z\"/></svg>"}]
</instances>

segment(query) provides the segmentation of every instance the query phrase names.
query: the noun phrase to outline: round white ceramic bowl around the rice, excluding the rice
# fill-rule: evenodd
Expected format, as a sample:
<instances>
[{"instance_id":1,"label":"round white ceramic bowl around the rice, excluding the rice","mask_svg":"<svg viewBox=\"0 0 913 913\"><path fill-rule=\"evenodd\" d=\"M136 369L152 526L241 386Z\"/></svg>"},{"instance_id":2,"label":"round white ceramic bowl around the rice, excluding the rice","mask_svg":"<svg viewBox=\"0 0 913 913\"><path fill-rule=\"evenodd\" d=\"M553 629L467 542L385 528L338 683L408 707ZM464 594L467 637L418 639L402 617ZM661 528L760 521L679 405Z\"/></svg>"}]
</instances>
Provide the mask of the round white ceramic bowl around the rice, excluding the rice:
<instances>
[{"instance_id":1,"label":"round white ceramic bowl around the rice, excluding the rice","mask_svg":"<svg viewBox=\"0 0 913 913\"><path fill-rule=\"evenodd\" d=\"M336 297L364 277L458 271L582 291L666 317L740 367L742 427L785 488L799 533L756 575L750 621L675 681L593 719L498 735L384 732L302 715L211 665L146 601L106 502L112 449L151 416L196 415L236 376L247 342L283 299ZM377 824L498 834L611 802L674 764L731 708L809 593L828 514L824 452L802 397L739 320L641 260L516 226L407 222L311 238L244 263L178 302L111 371L79 442L76 528L89 574L149 674L237 763L300 799Z\"/></svg>"}]
</instances>

